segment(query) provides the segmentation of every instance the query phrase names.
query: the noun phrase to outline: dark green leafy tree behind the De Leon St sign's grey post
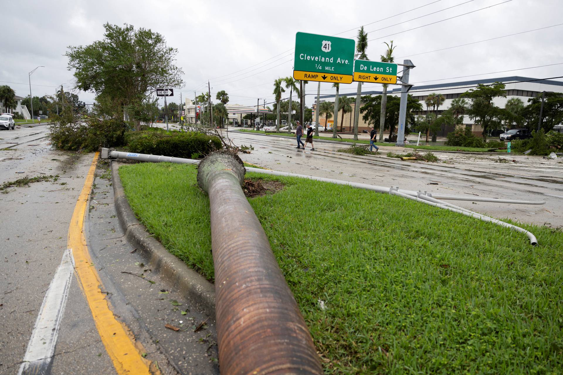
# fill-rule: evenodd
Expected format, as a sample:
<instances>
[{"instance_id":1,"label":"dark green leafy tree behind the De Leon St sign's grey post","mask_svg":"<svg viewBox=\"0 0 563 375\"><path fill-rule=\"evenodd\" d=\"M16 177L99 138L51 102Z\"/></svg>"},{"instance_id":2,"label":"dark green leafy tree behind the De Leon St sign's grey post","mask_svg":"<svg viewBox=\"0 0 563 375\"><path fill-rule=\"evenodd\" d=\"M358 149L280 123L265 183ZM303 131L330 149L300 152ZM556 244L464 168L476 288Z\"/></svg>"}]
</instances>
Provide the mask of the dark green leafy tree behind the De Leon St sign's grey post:
<instances>
[{"instance_id":1,"label":"dark green leafy tree behind the De Leon St sign's grey post","mask_svg":"<svg viewBox=\"0 0 563 375\"><path fill-rule=\"evenodd\" d=\"M364 121L372 126L381 124L381 95L371 96L367 95L362 97L364 105L361 107L360 112L364 115ZM394 133L395 124L399 123L399 107L401 98L398 96L387 97L387 110L385 111L385 124L389 124L390 134ZM415 124L415 112L422 111L422 104L415 99L411 94L408 94L406 100L406 126L413 126ZM385 129L384 129L385 130Z\"/></svg>"}]
</instances>

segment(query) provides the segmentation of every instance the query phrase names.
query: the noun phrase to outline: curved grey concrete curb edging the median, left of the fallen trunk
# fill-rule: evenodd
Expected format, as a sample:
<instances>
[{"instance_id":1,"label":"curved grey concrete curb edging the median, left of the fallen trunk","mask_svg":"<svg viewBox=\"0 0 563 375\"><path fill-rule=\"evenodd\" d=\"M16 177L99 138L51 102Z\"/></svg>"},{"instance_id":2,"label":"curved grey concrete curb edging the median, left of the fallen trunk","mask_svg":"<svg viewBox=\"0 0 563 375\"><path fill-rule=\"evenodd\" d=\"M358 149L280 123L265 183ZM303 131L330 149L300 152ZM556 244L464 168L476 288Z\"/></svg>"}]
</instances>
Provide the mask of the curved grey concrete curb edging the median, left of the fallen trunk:
<instances>
[{"instance_id":1,"label":"curved grey concrete curb edging the median, left of the fallen trunk","mask_svg":"<svg viewBox=\"0 0 563 375\"><path fill-rule=\"evenodd\" d=\"M178 288L184 296L195 302L203 313L215 320L215 286L170 254L137 220L119 178L119 165L118 162L111 161L111 182L115 210L125 238L152 264L155 272L159 272L173 284L173 287Z\"/></svg>"}]
</instances>

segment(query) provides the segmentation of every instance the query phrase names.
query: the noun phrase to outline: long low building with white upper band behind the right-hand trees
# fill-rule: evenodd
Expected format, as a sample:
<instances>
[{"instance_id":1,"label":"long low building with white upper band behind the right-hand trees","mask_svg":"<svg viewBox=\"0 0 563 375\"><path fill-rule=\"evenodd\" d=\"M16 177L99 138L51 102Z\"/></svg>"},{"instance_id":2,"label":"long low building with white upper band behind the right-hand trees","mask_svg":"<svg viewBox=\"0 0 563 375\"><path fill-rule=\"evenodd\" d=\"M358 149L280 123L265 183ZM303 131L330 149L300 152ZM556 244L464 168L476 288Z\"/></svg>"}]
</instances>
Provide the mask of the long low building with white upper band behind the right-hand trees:
<instances>
[{"instance_id":1,"label":"long low building with white upper band behind the right-hand trees","mask_svg":"<svg viewBox=\"0 0 563 375\"><path fill-rule=\"evenodd\" d=\"M412 78L412 77L411 77ZM478 80L467 80L467 81L460 81L460 82L449 82L449 83L438 83L438 84L428 84L428 85L417 85L415 84L409 91L409 94L412 94L414 98L416 98L419 102L422 103L423 107L425 108L423 111L417 112L417 115L425 115L426 114L426 105L425 100L431 93L440 93L445 96L445 101L440 105L437 109L438 114L447 110L452 103L452 100L455 98L461 97L461 94L468 91L471 88L475 88L475 86L479 83L482 84L493 84L495 82L502 82L506 85L504 91L506 92L506 97L497 97L494 98L493 103L501 108L504 108L506 102L510 98L520 98L524 105L528 105L528 99L536 97L538 94L541 94L543 91L546 92L563 92L563 82L550 80L550 79L535 79L529 77L522 77L522 76L510 76L510 77L501 77L501 78L486 78L486 79L478 79ZM387 90L387 94L391 96L400 96L401 87L390 85ZM381 95L381 91L363 91L362 96L364 95ZM356 97L356 92L352 93L341 93L339 96L351 96ZM330 101L334 102L334 95L321 95L320 102ZM344 115L344 120L342 121L342 111L338 112L338 128L341 125L344 125L344 130L348 131L348 129L353 129L354 127L354 115L355 115L355 103L351 104L352 111ZM313 105L315 108L315 105ZM363 115L360 113L360 119L358 123L359 131L367 129L368 124L363 121ZM325 121L328 124L332 124L334 118L325 119L323 114L319 114L319 123L320 125L324 125ZM463 123L466 126L471 126L471 130L476 135L481 135L482 127L479 124L475 124L474 120L471 120L469 116L465 115L463 119ZM443 137L449 132L454 130L454 126L444 126L440 132L437 133L438 136Z\"/></svg>"}]
</instances>

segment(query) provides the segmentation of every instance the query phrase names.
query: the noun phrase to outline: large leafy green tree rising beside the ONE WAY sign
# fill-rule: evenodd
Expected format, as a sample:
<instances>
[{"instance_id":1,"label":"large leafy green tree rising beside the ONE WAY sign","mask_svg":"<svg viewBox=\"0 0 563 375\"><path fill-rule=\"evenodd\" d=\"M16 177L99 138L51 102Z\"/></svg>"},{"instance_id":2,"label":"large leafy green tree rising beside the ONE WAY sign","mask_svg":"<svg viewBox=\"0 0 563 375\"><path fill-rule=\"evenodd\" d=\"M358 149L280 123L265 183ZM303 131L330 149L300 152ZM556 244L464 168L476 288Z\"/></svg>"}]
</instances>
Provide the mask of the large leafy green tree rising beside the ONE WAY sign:
<instances>
[{"instance_id":1,"label":"large leafy green tree rising beside the ONE WAY sign","mask_svg":"<svg viewBox=\"0 0 563 375\"><path fill-rule=\"evenodd\" d=\"M119 102L128 120L126 106L149 100L157 88L182 86L183 72L174 63L177 49L162 35L128 24L104 28L102 40L66 52L78 89Z\"/></svg>"}]
</instances>

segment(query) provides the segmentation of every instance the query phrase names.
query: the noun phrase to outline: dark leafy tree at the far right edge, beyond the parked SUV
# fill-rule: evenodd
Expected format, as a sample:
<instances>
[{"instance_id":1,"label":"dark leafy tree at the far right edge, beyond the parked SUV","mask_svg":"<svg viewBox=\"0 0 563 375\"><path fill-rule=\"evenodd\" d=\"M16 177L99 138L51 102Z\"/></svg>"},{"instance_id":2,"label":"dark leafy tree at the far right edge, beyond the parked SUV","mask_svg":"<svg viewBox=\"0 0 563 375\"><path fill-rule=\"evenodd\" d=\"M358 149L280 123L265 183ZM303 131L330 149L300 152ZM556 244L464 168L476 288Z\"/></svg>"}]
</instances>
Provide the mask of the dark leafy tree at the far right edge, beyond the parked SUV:
<instances>
[{"instance_id":1,"label":"dark leafy tree at the far right edge, beyond the parked SUV","mask_svg":"<svg viewBox=\"0 0 563 375\"><path fill-rule=\"evenodd\" d=\"M522 116L531 129L537 129L539 113L542 107L542 93L535 98L528 99L528 105L522 110ZM563 124L563 93L546 92L543 103L541 128L549 132L555 125Z\"/></svg>"}]
</instances>

